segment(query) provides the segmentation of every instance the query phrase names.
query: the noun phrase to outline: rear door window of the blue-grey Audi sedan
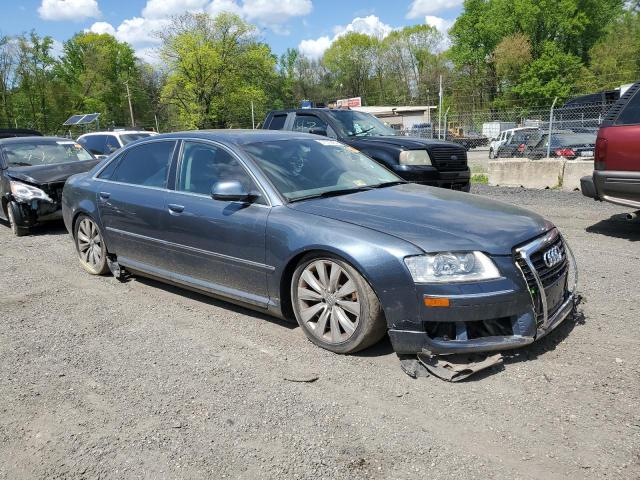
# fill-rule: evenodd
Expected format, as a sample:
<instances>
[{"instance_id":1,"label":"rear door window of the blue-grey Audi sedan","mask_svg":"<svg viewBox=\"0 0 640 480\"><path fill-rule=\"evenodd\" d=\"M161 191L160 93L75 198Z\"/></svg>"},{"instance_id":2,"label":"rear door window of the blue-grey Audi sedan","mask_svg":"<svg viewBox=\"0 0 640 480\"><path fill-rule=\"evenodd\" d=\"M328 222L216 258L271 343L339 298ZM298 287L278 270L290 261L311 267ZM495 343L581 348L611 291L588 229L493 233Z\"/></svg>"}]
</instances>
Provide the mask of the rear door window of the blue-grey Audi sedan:
<instances>
[{"instance_id":1,"label":"rear door window of the blue-grey Audi sedan","mask_svg":"<svg viewBox=\"0 0 640 480\"><path fill-rule=\"evenodd\" d=\"M164 188L175 142L145 143L131 148L111 175L115 182Z\"/></svg>"}]
</instances>

